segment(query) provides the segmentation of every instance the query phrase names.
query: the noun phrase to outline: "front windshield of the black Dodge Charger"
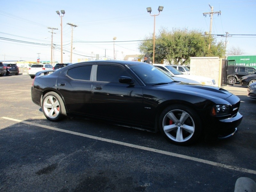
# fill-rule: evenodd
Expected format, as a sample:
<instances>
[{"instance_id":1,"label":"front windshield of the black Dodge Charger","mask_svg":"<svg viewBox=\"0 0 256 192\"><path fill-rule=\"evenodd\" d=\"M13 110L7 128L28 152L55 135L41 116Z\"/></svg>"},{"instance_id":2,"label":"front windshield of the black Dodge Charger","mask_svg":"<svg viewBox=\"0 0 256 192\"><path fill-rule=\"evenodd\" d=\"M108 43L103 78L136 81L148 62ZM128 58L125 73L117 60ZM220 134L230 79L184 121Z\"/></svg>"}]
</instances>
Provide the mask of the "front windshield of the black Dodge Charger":
<instances>
[{"instance_id":1,"label":"front windshield of the black Dodge Charger","mask_svg":"<svg viewBox=\"0 0 256 192\"><path fill-rule=\"evenodd\" d=\"M174 82L170 76L165 75L162 71L149 64L129 65L128 67L145 85L154 86Z\"/></svg>"}]
</instances>

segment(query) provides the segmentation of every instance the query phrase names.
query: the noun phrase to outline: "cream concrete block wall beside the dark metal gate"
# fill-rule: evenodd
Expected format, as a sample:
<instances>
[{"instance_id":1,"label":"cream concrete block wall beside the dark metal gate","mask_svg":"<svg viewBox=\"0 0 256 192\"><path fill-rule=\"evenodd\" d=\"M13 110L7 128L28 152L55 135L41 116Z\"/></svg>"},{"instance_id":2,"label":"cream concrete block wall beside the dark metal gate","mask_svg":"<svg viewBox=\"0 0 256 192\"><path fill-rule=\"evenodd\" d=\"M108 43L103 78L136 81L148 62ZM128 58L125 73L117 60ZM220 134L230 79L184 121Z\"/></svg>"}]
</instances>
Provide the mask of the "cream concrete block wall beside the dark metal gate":
<instances>
[{"instance_id":1,"label":"cream concrete block wall beside the dark metal gate","mask_svg":"<svg viewBox=\"0 0 256 192\"><path fill-rule=\"evenodd\" d=\"M219 57L190 57L190 75L209 77L219 85Z\"/></svg>"}]
</instances>

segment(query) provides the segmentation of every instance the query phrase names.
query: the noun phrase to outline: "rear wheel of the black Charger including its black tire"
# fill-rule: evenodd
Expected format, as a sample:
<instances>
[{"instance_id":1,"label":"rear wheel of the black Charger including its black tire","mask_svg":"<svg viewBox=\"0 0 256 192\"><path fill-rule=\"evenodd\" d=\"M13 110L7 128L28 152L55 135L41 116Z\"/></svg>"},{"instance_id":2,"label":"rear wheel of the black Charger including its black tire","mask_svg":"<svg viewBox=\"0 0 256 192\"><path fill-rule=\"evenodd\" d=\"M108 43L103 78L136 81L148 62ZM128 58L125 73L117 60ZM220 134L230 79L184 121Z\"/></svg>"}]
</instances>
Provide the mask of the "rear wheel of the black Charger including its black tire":
<instances>
[{"instance_id":1,"label":"rear wheel of the black Charger including its black tire","mask_svg":"<svg viewBox=\"0 0 256 192\"><path fill-rule=\"evenodd\" d=\"M46 93L41 106L44 116L50 121L60 121L67 116L64 103L55 92Z\"/></svg>"}]
</instances>

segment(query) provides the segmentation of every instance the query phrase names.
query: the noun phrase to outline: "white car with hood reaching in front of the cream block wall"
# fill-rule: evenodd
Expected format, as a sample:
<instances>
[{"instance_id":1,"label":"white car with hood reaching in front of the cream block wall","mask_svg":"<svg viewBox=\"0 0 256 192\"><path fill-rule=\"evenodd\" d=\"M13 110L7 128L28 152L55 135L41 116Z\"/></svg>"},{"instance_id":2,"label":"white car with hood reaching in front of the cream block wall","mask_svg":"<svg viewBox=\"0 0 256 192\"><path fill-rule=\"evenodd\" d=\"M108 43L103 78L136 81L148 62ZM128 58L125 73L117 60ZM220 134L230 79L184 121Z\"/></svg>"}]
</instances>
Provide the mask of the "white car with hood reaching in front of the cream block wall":
<instances>
[{"instance_id":1,"label":"white car with hood reaching in front of the cream block wall","mask_svg":"<svg viewBox=\"0 0 256 192\"><path fill-rule=\"evenodd\" d=\"M176 77L183 77L186 79L191 79L194 81L199 82L200 84L203 85L211 85L217 87L218 85L216 84L215 80L209 77L203 77L203 76L196 76L196 75L184 75L180 71L178 71L176 68L172 67L171 65L165 65L165 64L153 64L155 67L163 69L167 73L170 73L173 76Z\"/></svg>"}]
</instances>

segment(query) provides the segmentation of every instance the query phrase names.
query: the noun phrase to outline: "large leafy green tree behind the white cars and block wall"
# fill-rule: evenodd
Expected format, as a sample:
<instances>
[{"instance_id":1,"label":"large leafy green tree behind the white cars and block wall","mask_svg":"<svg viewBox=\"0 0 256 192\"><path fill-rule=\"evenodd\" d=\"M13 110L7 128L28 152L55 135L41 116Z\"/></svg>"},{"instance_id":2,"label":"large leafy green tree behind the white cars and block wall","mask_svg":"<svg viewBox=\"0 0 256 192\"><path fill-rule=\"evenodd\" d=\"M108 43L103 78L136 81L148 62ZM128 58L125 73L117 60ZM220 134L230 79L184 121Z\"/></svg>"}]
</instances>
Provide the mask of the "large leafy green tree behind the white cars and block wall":
<instances>
[{"instance_id":1,"label":"large leafy green tree behind the white cars and block wall","mask_svg":"<svg viewBox=\"0 0 256 192\"><path fill-rule=\"evenodd\" d=\"M187 28L174 28L168 31L163 28L155 38L155 63L168 60L169 63L187 64L190 57L220 57L225 55L223 42L204 36L199 30L188 30ZM139 44L142 53L153 56L153 36L146 36L145 41ZM209 43L211 48L208 49Z\"/></svg>"}]
</instances>

